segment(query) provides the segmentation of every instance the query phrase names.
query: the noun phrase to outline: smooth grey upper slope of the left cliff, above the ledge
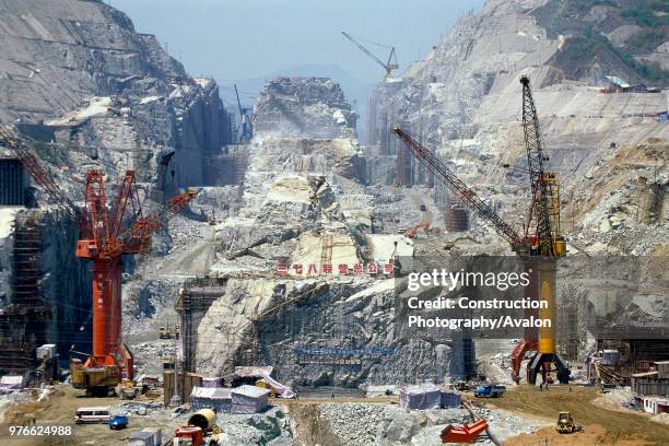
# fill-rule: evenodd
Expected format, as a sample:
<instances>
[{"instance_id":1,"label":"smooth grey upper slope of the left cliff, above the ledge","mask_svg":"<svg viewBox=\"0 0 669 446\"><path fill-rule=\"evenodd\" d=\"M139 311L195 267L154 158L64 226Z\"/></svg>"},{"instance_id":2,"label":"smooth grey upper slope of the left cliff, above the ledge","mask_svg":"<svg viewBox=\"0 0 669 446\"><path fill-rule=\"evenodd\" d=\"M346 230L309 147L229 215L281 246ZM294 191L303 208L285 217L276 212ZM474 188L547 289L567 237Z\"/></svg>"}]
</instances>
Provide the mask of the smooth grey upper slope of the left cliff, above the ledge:
<instances>
[{"instance_id":1,"label":"smooth grey upper slope of the left cliff, above the ledge","mask_svg":"<svg viewBox=\"0 0 669 446\"><path fill-rule=\"evenodd\" d=\"M91 96L186 77L154 36L102 1L3 0L0 16L3 121L57 117Z\"/></svg>"}]
</instances>

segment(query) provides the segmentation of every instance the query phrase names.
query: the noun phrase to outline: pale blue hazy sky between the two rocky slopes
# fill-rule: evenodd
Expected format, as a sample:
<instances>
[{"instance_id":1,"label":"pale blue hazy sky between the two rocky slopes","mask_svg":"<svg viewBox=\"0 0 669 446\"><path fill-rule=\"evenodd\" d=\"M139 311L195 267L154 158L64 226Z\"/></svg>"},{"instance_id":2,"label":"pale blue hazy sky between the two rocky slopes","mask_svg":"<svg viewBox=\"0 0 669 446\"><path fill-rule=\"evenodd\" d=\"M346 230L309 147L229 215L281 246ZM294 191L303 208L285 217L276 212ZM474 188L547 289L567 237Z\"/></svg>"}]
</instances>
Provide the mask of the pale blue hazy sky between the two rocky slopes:
<instances>
[{"instance_id":1,"label":"pale blue hazy sky between the two rocky slopes","mask_svg":"<svg viewBox=\"0 0 669 446\"><path fill-rule=\"evenodd\" d=\"M305 64L338 66L371 83L384 70L341 35L395 45L400 70L483 0L107 0L155 34L191 75L223 85ZM369 45L380 59L386 48Z\"/></svg>"}]
</instances>

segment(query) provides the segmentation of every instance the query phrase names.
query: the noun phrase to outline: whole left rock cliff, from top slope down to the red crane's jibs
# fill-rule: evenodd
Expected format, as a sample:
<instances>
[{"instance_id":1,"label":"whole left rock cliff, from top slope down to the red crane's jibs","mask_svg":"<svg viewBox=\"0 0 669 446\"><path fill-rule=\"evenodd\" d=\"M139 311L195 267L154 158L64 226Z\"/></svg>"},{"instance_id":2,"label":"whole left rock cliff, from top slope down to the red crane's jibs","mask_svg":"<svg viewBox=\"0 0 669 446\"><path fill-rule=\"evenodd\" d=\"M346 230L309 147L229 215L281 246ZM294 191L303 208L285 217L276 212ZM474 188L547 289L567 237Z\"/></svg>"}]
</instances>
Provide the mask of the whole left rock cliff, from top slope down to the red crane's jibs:
<instances>
[{"instance_id":1,"label":"whole left rock cliff, from top slope down to the red crane's jibs","mask_svg":"<svg viewBox=\"0 0 669 446\"><path fill-rule=\"evenodd\" d=\"M0 11L0 121L66 146L54 167L70 161L81 179L98 166L110 180L134 168L159 199L209 181L207 161L231 138L215 82L188 77L103 2L3 0Z\"/></svg>"}]
</instances>

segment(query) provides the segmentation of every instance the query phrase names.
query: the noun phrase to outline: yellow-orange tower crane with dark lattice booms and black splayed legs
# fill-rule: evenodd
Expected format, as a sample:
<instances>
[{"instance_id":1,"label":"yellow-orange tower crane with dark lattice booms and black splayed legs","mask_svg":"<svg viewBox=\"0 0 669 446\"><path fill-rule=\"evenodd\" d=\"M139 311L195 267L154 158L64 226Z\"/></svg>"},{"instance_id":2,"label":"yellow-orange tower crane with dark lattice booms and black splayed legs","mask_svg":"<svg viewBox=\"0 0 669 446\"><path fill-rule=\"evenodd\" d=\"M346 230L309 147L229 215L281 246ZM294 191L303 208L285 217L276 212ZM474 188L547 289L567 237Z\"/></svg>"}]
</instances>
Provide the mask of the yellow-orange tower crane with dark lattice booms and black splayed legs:
<instances>
[{"instance_id":1,"label":"yellow-orange tower crane with dark lattice booms and black splayed legs","mask_svg":"<svg viewBox=\"0 0 669 446\"><path fill-rule=\"evenodd\" d=\"M435 154L422 146L416 140L395 127L392 132L399 137L413 155L431 171L436 178L458 197L466 206L478 213L483 222L509 243L525 263L530 278L527 296L545 301L547 308L538 314L526 313L550 319L550 327L527 328L524 339L512 352L512 377L520 380L520 367L526 353L532 352L527 366L527 382L536 384L540 374L544 383L552 382L556 372L561 384L567 384L570 368L555 351L555 277L556 261L566 255L566 243L560 233L560 179L556 173L547 172L537 108L531 93L529 78L520 78L523 85L523 130L530 179L531 200L520 235L506 223L488 203L453 173ZM537 310L533 310L537 312ZM553 365L555 368L553 368Z\"/></svg>"}]
</instances>

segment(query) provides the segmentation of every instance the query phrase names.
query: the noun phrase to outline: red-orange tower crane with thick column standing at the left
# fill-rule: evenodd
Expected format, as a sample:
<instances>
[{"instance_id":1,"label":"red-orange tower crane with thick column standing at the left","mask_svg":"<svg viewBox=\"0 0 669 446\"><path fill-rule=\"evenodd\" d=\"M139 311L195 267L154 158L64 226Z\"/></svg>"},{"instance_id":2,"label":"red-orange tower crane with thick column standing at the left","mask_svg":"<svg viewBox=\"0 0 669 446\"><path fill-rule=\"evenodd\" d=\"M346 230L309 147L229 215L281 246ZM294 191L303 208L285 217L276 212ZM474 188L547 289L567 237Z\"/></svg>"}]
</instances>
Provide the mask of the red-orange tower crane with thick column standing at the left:
<instances>
[{"instance_id":1,"label":"red-orange tower crane with thick column standing at the left","mask_svg":"<svg viewBox=\"0 0 669 446\"><path fill-rule=\"evenodd\" d=\"M86 175L86 209L82 239L77 242L77 257L93 261L93 354L85 364L73 360L72 385L86 390L108 389L122 378L132 379L133 359L122 344L121 258L127 254L148 251L151 235L162 225L167 212L181 211L196 193L184 192L169 201L162 212L142 216L134 171L128 171L109 213L103 174ZM128 202L133 223L121 231Z\"/></svg>"}]
</instances>

